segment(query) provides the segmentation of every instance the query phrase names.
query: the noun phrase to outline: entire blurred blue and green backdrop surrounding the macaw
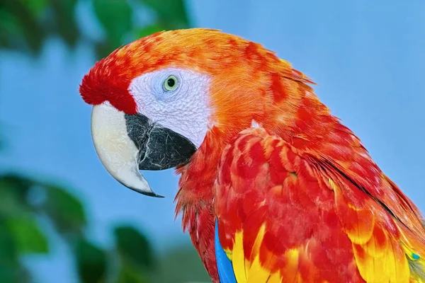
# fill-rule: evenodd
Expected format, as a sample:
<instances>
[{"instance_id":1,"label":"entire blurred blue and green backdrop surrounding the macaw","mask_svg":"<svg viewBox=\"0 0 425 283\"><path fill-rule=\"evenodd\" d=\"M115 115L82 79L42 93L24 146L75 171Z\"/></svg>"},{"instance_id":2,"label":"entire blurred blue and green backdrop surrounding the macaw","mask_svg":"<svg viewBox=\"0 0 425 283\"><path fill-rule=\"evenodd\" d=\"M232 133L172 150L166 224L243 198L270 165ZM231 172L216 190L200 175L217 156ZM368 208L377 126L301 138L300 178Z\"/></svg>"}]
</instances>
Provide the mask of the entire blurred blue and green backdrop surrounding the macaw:
<instances>
[{"instance_id":1,"label":"entire blurred blue and green backdrop surrounding the macaw","mask_svg":"<svg viewBox=\"0 0 425 283\"><path fill-rule=\"evenodd\" d=\"M314 3L312 3L314 2ZM159 30L261 42L425 212L425 2L0 0L0 282L208 282L181 221L178 176L137 195L101 165L78 93L96 60Z\"/></svg>"}]
</instances>

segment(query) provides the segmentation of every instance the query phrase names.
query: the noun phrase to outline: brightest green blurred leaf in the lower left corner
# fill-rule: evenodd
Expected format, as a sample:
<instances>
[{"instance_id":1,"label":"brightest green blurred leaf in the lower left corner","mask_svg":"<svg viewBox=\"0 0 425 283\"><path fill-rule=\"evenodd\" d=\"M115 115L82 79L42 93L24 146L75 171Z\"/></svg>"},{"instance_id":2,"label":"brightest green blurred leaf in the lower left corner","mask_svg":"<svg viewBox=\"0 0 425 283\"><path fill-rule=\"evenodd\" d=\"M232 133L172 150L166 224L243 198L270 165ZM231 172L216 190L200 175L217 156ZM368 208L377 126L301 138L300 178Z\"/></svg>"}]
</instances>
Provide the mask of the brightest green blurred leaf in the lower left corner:
<instances>
[{"instance_id":1,"label":"brightest green blurred leaf in the lower left corner","mask_svg":"<svg viewBox=\"0 0 425 283\"><path fill-rule=\"evenodd\" d=\"M36 219L29 216L12 216L7 222L19 253L48 253L47 238Z\"/></svg>"}]
</instances>

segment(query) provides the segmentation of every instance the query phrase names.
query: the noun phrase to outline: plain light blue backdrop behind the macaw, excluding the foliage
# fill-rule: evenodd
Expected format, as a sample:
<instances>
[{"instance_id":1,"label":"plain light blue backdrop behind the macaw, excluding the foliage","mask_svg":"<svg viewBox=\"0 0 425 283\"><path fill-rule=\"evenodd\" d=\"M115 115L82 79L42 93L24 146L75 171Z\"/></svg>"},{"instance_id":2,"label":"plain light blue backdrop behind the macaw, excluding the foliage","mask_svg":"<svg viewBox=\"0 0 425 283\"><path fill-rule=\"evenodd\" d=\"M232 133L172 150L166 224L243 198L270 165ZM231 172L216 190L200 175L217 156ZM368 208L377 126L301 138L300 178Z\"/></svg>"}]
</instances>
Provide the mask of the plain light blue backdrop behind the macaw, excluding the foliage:
<instances>
[{"instance_id":1,"label":"plain light blue backdrop behind the macaw, excluding the foliage","mask_svg":"<svg viewBox=\"0 0 425 283\"><path fill-rule=\"evenodd\" d=\"M372 4L373 3L373 4ZM261 42L319 86L321 100L360 137L382 171L425 211L425 2L187 1L192 23ZM96 34L91 7L79 18ZM69 52L52 38L40 59L1 52L0 127L8 140L1 170L55 178L89 207L90 235L118 221L142 226L159 252L188 242L174 221L174 172L146 172L166 198L141 197L101 165L90 134L91 108L78 87L94 64L84 44ZM30 258L42 282L77 282L60 240L49 258Z\"/></svg>"}]
</instances>

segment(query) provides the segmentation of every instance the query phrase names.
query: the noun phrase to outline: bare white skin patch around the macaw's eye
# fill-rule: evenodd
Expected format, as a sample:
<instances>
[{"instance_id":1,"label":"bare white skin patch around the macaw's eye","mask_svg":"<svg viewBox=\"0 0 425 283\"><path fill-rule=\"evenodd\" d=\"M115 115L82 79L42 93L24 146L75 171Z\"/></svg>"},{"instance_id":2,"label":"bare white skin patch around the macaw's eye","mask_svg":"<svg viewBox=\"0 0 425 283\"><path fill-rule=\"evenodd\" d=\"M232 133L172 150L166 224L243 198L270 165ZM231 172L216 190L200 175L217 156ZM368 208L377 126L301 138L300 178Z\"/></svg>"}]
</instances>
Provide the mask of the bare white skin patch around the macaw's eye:
<instances>
[{"instance_id":1,"label":"bare white skin patch around the macaw's eye","mask_svg":"<svg viewBox=\"0 0 425 283\"><path fill-rule=\"evenodd\" d=\"M164 87L169 78L174 80L171 91ZM166 68L133 79L129 91L137 112L186 137L198 149L208 131L209 82L205 74Z\"/></svg>"}]
</instances>

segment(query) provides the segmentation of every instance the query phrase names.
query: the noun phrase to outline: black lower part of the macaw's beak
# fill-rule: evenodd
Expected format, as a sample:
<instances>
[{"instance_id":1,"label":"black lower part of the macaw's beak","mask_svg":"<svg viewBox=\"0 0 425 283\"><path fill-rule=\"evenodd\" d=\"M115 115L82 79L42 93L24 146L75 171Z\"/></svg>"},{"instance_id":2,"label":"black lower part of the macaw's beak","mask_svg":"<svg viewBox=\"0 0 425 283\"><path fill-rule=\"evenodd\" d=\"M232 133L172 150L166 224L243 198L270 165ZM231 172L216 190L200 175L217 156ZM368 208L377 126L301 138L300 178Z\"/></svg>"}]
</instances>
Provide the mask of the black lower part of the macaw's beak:
<instances>
[{"instance_id":1,"label":"black lower part of the macaw's beak","mask_svg":"<svg viewBox=\"0 0 425 283\"><path fill-rule=\"evenodd\" d=\"M125 115L128 137L139 154L140 170L164 170L188 163L196 146L181 134L152 123L144 115Z\"/></svg>"}]
</instances>

